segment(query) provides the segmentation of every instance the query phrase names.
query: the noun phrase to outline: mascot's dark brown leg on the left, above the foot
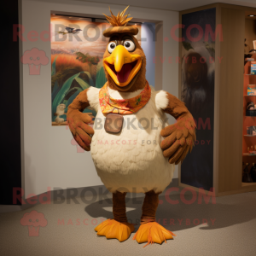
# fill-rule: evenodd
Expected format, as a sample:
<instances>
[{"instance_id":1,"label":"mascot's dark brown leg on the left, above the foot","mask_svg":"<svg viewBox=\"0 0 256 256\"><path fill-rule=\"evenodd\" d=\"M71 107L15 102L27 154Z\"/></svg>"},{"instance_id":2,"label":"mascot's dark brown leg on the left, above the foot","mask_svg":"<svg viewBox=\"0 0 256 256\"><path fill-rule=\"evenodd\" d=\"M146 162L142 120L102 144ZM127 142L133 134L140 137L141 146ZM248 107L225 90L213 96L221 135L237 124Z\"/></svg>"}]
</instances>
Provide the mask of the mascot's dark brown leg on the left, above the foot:
<instances>
[{"instance_id":1,"label":"mascot's dark brown leg on the left, above the foot","mask_svg":"<svg viewBox=\"0 0 256 256\"><path fill-rule=\"evenodd\" d=\"M116 191L113 193L113 219L120 223L126 223L125 193Z\"/></svg>"}]
</instances>

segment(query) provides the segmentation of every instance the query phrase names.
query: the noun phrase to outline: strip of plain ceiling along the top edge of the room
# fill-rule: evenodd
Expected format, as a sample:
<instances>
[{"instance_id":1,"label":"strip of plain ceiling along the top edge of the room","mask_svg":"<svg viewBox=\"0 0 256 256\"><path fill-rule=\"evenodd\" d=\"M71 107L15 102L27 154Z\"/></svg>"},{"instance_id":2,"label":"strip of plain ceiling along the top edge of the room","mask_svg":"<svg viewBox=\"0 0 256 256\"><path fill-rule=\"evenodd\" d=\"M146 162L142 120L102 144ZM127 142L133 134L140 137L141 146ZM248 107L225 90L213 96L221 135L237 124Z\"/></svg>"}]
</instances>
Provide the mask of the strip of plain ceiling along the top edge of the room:
<instances>
[{"instance_id":1,"label":"strip of plain ceiling along the top edge of the room","mask_svg":"<svg viewBox=\"0 0 256 256\"><path fill-rule=\"evenodd\" d=\"M256 0L78 0L84 2L97 2L119 5L131 5L136 7L147 7L152 9L168 9L181 11L191 9L211 3L230 3L236 5L243 5L256 8Z\"/></svg>"}]
</instances>

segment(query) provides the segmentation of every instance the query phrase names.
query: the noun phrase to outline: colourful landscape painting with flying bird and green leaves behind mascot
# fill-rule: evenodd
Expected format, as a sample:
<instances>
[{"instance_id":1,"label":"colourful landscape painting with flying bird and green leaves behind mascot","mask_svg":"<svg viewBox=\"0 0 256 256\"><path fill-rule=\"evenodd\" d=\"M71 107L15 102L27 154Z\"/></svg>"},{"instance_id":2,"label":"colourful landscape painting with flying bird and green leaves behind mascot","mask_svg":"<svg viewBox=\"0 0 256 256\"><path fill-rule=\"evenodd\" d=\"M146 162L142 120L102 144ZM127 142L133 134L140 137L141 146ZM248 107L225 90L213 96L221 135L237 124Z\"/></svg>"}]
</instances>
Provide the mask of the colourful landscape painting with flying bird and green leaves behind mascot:
<instances>
[{"instance_id":1,"label":"colourful landscape painting with flying bird and green leaves behind mascot","mask_svg":"<svg viewBox=\"0 0 256 256\"><path fill-rule=\"evenodd\" d=\"M51 124L67 125L67 108L82 90L102 88L107 82L102 58L108 38L102 32L110 25L79 17L51 15ZM97 20L96 20L97 21ZM137 26L141 31L141 26ZM141 41L140 32L137 35ZM84 113L96 117L93 108Z\"/></svg>"}]
</instances>

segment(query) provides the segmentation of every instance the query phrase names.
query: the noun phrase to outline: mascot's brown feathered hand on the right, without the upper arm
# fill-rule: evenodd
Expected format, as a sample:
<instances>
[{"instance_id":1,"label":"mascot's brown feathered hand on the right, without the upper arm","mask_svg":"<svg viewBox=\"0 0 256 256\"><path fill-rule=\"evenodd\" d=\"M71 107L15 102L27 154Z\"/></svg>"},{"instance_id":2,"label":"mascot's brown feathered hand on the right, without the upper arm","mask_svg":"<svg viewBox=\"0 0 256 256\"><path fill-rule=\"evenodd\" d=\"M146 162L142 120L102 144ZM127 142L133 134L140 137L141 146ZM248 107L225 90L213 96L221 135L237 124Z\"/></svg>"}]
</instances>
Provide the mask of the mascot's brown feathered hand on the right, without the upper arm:
<instances>
[{"instance_id":1,"label":"mascot's brown feathered hand on the right, without the upper arm","mask_svg":"<svg viewBox=\"0 0 256 256\"><path fill-rule=\"evenodd\" d=\"M195 143L195 121L192 115L177 119L174 125L168 125L160 135L165 137L160 147L163 149L165 157L169 158L169 163L177 165L183 162L185 156L190 152Z\"/></svg>"}]
</instances>

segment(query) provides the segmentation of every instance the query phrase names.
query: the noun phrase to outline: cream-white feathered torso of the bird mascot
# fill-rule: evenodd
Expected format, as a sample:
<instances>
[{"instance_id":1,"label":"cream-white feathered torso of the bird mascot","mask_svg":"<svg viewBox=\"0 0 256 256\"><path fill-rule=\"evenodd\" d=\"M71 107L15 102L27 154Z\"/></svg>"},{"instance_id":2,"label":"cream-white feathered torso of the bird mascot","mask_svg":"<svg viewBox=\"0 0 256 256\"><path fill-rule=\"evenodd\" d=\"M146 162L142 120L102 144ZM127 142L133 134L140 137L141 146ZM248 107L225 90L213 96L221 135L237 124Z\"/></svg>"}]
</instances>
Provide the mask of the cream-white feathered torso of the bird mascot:
<instances>
[{"instance_id":1,"label":"cream-white feathered torso of the bird mascot","mask_svg":"<svg viewBox=\"0 0 256 256\"><path fill-rule=\"evenodd\" d=\"M111 192L145 193L151 189L162 192L172 182L174 165L163 155L160 131L166 127L168 99L165 91L154 91L148 103L137 113L125 114L123 129L110 134L104 129L105 116L99 105L99 90L90 87L87 96L90 106L97 111L90 152L102 183ZM137 96L141 90L120 93L108 89L115 99ZM132 125L131 125L132 124Z\"/></svg>"}]
</instances>

